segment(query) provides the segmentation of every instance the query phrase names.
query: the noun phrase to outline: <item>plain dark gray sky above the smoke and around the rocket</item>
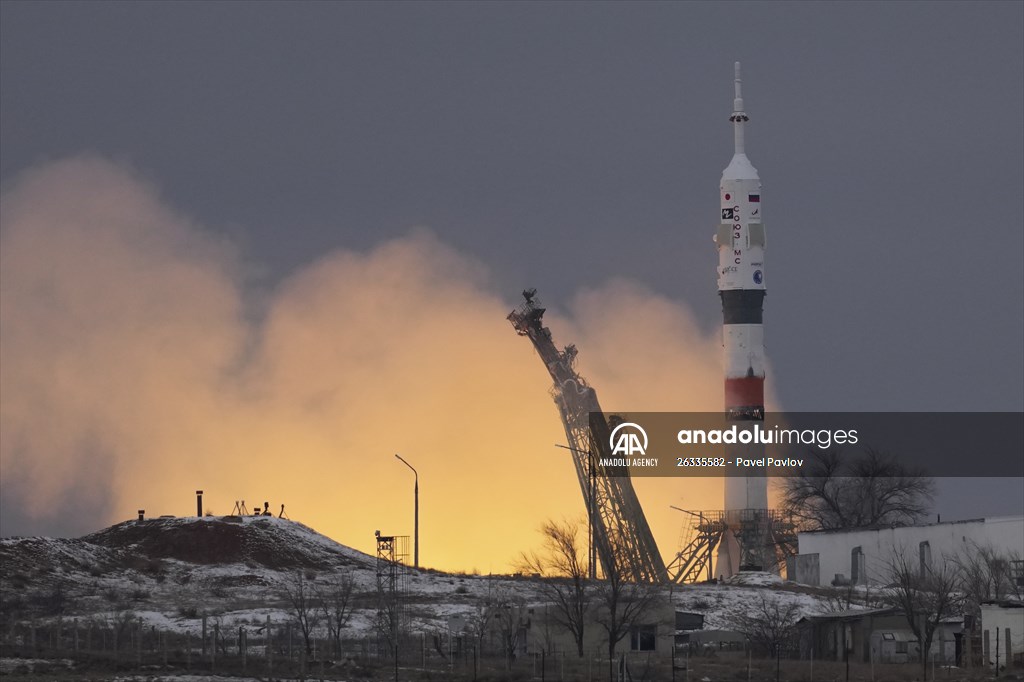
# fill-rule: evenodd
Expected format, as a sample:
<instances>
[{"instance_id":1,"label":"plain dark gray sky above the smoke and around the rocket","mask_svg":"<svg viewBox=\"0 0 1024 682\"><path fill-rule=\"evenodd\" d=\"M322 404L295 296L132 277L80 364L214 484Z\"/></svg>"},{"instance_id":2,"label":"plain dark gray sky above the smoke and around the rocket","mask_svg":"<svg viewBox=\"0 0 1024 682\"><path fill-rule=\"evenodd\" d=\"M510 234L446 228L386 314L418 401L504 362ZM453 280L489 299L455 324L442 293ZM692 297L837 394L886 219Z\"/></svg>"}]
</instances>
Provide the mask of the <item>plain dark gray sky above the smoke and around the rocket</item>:
<instances>
[{"instance_id":1,"label":"plain dark gray sky above the smoke and around the rocket","mask_svg":"<svg viewBox=\"0 0 1024 682\"><path fill-rule=\"evenodd\" d=\"M510 305L624 276L709 332L740 60L781 403L1024 409L1024 3L0 7L5 189L96 153L257 290L425 225Z\"/></svg>"}]
</instances>

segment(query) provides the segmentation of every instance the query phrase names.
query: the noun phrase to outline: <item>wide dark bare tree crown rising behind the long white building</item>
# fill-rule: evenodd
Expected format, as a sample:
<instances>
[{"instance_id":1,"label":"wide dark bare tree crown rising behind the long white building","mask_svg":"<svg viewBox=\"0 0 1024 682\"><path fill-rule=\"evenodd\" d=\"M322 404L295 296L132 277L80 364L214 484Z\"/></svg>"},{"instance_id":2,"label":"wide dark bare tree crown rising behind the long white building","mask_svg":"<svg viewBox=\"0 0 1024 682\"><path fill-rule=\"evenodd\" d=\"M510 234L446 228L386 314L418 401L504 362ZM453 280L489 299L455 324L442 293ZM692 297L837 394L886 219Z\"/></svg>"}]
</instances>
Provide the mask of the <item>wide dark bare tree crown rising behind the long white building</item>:
<instances>
[{"instance_id":1,"label":"wide dark bare tree crown rising behind the long white building","mask_svg":"<svg viewBox=\"0 0 1024 682\"><path fill-rule=\"evenodd\" d=\"M890 454L813 450L807 469L782 483L782 508L808 529L906 525L925 517L935 482Z\"/></svg>"}]
</instances>

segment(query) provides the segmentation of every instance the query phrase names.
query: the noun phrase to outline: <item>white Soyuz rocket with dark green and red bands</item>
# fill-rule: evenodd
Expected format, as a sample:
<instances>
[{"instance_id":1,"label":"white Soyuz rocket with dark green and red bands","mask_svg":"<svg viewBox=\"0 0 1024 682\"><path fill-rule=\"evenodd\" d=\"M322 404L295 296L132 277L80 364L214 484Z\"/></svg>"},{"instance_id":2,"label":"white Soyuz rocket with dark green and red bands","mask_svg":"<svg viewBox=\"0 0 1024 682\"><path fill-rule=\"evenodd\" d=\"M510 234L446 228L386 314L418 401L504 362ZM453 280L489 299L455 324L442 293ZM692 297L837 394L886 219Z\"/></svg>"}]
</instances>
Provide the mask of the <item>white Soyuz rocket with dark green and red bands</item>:
<instances>
[{"instance_id":1,"label":"white Soyuz rocket with dark green and red bands","mask_svg":"<svg viewBox=\"0 0 1024 682\"><path fill-rule=\"evenodd\" d=\"M734 150L719 186L722 218L715 243L718 245L718 294L722 299L726 417L738 422L757 422L764 421L765 412L762 327L765 227L761 213L761 178L744 148L743 129L750 118L743 110L740 85L737 61L735 98L729 117ZM745 452L742 456L750 457ZM727 477L725 480L727 515L739 510L768 508L766 477Z\"/></svg>"}]
</instances>

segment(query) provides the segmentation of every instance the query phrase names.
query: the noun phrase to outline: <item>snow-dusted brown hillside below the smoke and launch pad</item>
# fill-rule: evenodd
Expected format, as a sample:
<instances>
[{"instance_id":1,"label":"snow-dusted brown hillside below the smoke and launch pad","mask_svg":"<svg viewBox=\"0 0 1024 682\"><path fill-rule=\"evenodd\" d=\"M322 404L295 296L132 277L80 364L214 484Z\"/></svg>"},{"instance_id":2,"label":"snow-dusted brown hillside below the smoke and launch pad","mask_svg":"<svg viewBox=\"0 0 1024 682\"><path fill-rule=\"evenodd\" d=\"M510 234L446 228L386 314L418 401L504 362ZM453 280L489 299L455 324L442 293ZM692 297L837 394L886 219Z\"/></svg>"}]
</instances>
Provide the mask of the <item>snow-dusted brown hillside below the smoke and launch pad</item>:
<instances>
[{"instance_id":1,"label":"snow-dusted brown hillside below the smoke and launch pad","mask_svg":"<svg viewBox=\"0 0 1024 682\"><path fill-rule=\"evenodd\" d=\"M171 631L195 628L202 614L224 626L274 623L292 616L285 586L301 574L353 581L356 610L349 630L370 634L376 609L376 559L302 523L273 517L132 520L78 539L0 540L0 606L11 621L78 617L99 622L126 612ZM680 587L677 607L706 614L709 628L761 594L796 603L803 613L825 610L820 594L758 574L733 585ZM511 577L454 576L410 570L406 603L416 629L443 630L447 619L471 620L496 591L526 603L543 601L539 583Z\"/></svg>"}]
</instances>

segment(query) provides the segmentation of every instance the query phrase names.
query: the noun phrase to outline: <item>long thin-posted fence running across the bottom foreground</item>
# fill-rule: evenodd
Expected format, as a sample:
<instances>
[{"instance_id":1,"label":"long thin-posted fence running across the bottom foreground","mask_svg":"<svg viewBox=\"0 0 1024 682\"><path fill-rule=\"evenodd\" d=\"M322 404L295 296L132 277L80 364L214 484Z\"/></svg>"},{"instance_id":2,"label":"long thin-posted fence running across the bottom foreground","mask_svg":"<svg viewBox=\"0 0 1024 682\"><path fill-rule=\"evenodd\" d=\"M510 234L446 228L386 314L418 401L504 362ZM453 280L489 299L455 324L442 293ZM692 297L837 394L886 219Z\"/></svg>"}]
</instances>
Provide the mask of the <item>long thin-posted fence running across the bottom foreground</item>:
<instances>
[{"instance_id":1,"label":"long thin-posted fence running across the bottom foreground","mask_svg":"<svg viewBox=\"0 0 1024 682\"><path fill-rule=\"evenodd\" d=\"M332 642L311 637L309 647L294 623L227 626L207 619L190 629L169 630L143 625L137 617L105 621L63 620L8 625L0 635L0 656L71 662L90 674L105 671L144 673L182 671L197 674L248 675L260 679L319 680L479 680L542 682L633 680L849 679L911 680L918 665L759 658L750 651L693 650L630 652L609 662L605 651L519 652L505 655L473 637L447 638L443 633L414 634L399 639L397 651L376 637L346 637ZM57 666L61 664L55 664ZM931 666L928 679L965 680L971 671Z\"/></svg>"}]
</instances>

